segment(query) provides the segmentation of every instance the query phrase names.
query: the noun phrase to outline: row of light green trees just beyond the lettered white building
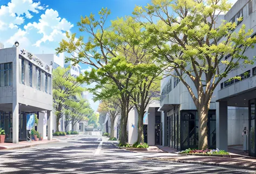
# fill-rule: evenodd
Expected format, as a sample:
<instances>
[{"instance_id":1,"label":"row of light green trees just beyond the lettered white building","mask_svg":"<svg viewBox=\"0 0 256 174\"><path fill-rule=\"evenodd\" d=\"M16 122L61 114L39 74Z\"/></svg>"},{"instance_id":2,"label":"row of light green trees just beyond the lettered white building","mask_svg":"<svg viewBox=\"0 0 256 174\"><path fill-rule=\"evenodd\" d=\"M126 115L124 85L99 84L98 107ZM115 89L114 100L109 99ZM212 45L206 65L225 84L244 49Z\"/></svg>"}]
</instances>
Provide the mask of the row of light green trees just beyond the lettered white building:
<instances>
[{"instance_id":1,"label":"row of light green trees just beyond the lettered white building","mask_svg":"<svg viewBox=\"0 0 256 174\"><path fill-rule=\"evenodd\" d=\"M70 67L58 67L53 70L52 96L53 110L56 115L56 132L59 132L59 120L65 115L65 130L72 125L72 131L77 122L89 121L93 115L90 103L82 99L81 93L86 89L81 86L76 77L70 75Z\"/></svg>"}]
</instances>

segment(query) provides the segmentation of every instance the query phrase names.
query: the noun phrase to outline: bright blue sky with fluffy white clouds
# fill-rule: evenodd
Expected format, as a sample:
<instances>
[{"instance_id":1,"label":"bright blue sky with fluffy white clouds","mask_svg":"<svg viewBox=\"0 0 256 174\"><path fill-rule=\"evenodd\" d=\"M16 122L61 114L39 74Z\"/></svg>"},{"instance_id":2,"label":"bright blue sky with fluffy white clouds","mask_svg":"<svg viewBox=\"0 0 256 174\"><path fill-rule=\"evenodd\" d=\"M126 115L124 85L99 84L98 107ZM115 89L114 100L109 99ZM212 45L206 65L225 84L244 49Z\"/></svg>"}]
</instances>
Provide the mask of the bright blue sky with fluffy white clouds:
<instances>
[{"instance_id":1,"label":"bright blue sky with fluffy white clouds","mask_svg":"<svg viewBox=\"0 0 256 174\"><path fill-rule=\"evenodd\" d=\"M229 0L234 3L237 0ZM19 41L20 47L33 54L55 53L65 31L79 33L80 16L97 14L109 8L111 15L106 25L117 17L131 15L135 5L145 6L151 0L0 0L0 42L11 47ZM87 38L86 35L84 35ZM80 64L82 69L90 67ZM98 102L92 102L93 109Z\"/></svg>"}]
</instances>

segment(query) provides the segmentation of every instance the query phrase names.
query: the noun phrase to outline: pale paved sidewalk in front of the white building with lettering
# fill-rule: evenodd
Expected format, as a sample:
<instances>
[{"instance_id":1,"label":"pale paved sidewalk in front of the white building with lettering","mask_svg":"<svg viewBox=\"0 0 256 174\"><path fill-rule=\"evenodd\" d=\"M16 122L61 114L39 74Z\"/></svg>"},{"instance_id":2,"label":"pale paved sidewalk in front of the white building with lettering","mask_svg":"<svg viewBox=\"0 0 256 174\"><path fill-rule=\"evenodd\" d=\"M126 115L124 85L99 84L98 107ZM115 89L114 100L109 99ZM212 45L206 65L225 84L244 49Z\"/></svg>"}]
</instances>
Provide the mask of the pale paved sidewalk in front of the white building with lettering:
<instances>
[{"instance_id":1,"label":"pale paved sidewalk in front of the white building with lettering","mask_svg":"<svg viewBox=\"0 0 256 174\"><path fill-rule=\"evenodd\" d=\"M0 150L11 150L11 149L21 149L21 148L28 148L28 147L33 147L37 146L39 144L48 144L48 143L53 143L53 142L58 142L58 140L42 140L42 141L20 141L18 144L16 143L1 143L0 144Z\"/></svg>"}]
</instances>

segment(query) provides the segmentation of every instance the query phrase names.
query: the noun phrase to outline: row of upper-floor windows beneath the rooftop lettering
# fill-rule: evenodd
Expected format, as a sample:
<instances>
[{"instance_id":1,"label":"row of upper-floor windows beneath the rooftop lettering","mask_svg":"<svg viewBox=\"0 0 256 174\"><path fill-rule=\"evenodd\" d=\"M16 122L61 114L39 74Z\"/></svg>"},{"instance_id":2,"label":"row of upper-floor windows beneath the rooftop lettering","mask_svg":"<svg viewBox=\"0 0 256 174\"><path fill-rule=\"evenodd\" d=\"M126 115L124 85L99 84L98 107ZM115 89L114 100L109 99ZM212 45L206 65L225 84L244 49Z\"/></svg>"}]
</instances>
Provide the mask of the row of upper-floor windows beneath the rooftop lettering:
<instances>
[{"instance_id":1,"label":"row of upper-floor windows beneath the rooftop lettering","mask_svg":"<svg viewBox=\"0 0 256 174\"><path fill-rule=\"evenodd\" d=\"M26 68L26 65L28 65L28 68ZM36 72L33 73L33 66L34 65L31 62L25 60L24 58L21 59L21 82L31 86L32 88L45 91L46 93L49 92L51 94L51 86L48 87L48 79L51 81L51 75L41 70L37 66L35 66ZM26 82L25 79L26 71L28 71L29 76L28 82ZM36 76L33 77L34 75ZM42 85L44 85L44 89L42 89Z\"/></svg>"}]
</instances>

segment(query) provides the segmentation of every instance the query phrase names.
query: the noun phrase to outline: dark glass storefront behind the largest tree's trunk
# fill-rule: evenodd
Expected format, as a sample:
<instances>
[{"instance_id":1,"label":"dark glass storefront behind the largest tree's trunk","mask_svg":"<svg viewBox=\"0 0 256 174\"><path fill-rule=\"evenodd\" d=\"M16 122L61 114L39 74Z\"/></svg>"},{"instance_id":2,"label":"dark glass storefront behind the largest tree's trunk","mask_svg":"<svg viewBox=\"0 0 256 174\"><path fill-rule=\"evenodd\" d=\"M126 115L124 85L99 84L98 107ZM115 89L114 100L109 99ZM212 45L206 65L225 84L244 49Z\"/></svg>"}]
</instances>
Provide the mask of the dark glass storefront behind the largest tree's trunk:
<instances>
[{"instance_id":1,"label":"dark glass storefront behind the largest tree's trunk","mask_svg":"<svg viewBox=\"0 0 256 174\"><path fill-rule=\"evenodd\" d=\"M167 117L167 146L179 150L198 148L198 112L181 110ZM216 148L215 110L208 112L208 146Z\"/></svg>"}]
</instances>

